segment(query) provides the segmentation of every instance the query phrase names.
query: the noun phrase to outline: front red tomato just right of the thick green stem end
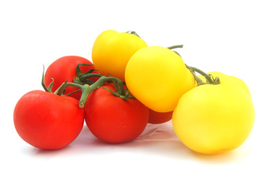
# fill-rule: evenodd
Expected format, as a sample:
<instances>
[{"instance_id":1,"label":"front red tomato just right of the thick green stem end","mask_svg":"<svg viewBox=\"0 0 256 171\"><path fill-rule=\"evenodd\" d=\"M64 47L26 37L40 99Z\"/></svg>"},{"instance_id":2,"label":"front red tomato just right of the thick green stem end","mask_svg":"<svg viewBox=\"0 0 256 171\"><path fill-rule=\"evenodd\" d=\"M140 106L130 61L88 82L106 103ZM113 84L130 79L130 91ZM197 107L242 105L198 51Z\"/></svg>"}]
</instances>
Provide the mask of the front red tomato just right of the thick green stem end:
<instances>
[{"instance_id":1,"label":"front red tomato just right of the thick green stem end","mask_svg":"<svg viewBox=\"0 0 256 171\"><path fill-rule=\"evenodd\" d=\"M113 83L102 87L115 91ZM103 88L88 95L84 110L91 133L108 143L129 142L137 138L149 117L148 108L135 98L123 100Z\"/></svg>"}]
</instances>

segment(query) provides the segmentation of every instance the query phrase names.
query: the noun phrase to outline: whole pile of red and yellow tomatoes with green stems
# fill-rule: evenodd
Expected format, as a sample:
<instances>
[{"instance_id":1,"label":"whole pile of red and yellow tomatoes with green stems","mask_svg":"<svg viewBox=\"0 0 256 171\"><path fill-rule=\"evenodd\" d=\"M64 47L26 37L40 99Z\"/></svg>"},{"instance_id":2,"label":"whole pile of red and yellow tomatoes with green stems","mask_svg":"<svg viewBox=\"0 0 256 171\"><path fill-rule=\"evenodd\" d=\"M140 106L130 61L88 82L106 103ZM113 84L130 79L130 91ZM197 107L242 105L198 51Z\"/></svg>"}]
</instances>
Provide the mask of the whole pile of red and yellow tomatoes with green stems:
<instances>
[{"instance_id":1,"label":"whole pile of red and yellow tomatoes with green stems","mask_svg":"<svg viewBox=\"0 0 256 171\"><path fill-rule=\"evenodd\" d=\"M129 142L148 123L172 120L191 150L234 150L250 135L255 109L240 78L188 66L174 48L147 46L134 31L103 31L92 62L63 56L43 72L43 90L14 108L20 137L34 147L59 149L77 138L84 121L99 140ZM199 73L199 74L195 74Z\"/></svg>"}]
</instances>

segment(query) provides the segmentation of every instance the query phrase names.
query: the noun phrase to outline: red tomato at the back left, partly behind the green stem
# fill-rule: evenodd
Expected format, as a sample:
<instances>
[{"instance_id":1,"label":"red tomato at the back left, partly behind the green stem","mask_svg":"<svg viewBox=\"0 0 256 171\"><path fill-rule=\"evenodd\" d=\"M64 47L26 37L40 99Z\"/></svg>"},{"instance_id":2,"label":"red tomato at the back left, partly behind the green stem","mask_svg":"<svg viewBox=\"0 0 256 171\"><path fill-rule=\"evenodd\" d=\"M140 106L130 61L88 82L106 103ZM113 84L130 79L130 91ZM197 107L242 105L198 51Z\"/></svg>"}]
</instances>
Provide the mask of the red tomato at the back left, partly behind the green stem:
<instances>
[{"instance_id":1,"label":"red tomato at the back left, partly behind the green stem","mask_svg":"<svg viewBox=\"0 0 256 171\"><path fill-rule=\"evenodd\" d=\"M52 92L57 90L58 87L61 86L62 83L68 81L69 83L73 83L73 78L76 78L76 66L79 63L93 64L88 59L83 58L81 56L63 56L58 58L56 61L51 63L48 66L45 76L44 83L48 87L50 83L54 80ZM95 69L94 66L80 66L81 72L86 73L91 69ZM98 71L93 71L93 73L98 73ZM98 77L90 78L91 81L97 81ZM74 91L79 90L75 87L67 87L65 94L73 93ZM81 98L81 90L70 95L73 98L80 99Z\"/></svg>"}]
</instances>

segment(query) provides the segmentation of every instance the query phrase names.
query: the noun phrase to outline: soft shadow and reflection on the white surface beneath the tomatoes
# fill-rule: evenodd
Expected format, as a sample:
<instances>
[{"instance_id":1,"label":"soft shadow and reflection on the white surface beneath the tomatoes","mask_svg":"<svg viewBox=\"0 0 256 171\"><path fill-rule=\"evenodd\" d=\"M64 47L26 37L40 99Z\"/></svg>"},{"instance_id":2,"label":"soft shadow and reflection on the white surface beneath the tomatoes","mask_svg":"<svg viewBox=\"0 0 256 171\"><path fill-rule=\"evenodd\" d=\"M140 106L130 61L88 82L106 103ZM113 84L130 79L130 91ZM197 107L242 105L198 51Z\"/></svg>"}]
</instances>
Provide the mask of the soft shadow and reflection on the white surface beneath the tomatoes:
<instances>
[{"instance_id":1,"label":"soft shadow and reflection on the white surface beneath the tomatoes","mask_svg":"<svg viewBox=\"0 0 256 171\"><path fill-rule=\"evenodd\" d=\"M32 148L32 150L31 150ZM225 163L232 160L237 161L238 153L236 151L225 152L220 155L203 155L190 150L183 145L175 135L171 123L148 124L143 133L133 141L110 144L98 140L87 126L84 125L78 138L70 145L59 150L41 150L35 147L27 149L31 155L40 157L56 156L77 156L77 155L109 155L115 152L145 154L151 156L161 156L168 158L178 158L182 160L196 160L200 162Z\"/></svg>"}]
</instances>

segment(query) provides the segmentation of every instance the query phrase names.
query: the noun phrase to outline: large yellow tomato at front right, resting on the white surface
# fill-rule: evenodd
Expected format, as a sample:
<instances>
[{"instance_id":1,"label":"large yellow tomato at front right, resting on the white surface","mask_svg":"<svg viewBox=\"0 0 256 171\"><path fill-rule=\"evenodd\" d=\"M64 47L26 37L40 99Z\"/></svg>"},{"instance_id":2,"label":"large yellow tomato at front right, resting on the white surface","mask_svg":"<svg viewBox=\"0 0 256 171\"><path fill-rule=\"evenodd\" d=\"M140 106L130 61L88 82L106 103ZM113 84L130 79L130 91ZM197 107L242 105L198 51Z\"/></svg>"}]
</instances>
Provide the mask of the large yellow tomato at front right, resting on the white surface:
<instances>
[{"instance_id":1,"label":"large yellow tomato at front right, resting on the white surface","mask_svg":"<svg viewBox=\"0 0 256 171\"><path fill-rule=\"evenodd\" d=\"M240 147L255 121L250 95L231 84L202 85L180 98L173 129L196 152L217 154Z\"/></svg>"}]
</instances>

